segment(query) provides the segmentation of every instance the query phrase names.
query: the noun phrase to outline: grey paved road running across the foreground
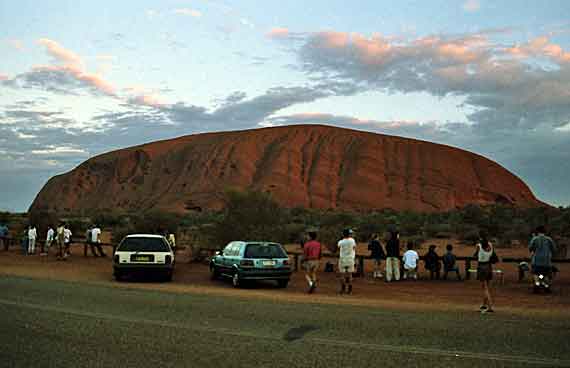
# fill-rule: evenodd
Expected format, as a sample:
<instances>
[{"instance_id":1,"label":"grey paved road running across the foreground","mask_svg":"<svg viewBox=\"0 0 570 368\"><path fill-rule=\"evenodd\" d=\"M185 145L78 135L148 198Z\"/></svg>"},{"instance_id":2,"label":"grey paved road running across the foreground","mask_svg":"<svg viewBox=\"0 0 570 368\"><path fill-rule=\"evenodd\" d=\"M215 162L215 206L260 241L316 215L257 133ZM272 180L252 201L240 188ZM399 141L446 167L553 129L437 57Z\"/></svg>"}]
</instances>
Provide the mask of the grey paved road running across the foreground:
<instances>
[{"instance_id":1,"label":"grey paved road running across the foreground","mask_svg":"<svg viewBox=\"0 0 570 368\"><path fill-rule=\"evenodd\" d=\"M570 366L564 320L7 276L0 290L0 367Z\"/></svg>"}]
</instances>

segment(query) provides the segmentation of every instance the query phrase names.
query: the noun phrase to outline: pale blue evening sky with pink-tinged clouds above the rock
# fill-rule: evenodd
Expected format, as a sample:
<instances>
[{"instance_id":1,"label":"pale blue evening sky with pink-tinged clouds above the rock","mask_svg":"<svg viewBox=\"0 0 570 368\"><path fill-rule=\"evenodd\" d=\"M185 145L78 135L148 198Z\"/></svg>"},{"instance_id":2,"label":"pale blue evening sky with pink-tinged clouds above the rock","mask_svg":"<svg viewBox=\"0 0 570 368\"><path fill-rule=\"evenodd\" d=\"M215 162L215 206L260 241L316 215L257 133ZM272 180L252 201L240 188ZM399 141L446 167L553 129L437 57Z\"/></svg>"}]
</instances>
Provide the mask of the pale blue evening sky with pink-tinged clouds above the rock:
<instances>
[{"instance_id":1,"label":"pale blue evening sky with pink-tinged clouds above the rock","mask_svg":"<svg viewBox=\"0 0 570 368\"><path fill-rule=\"evenodd\" d=\"M327 124L459 147L570 205L570 3L0 0L0 210L104 152Z\"/></svg>"}]
</instances>

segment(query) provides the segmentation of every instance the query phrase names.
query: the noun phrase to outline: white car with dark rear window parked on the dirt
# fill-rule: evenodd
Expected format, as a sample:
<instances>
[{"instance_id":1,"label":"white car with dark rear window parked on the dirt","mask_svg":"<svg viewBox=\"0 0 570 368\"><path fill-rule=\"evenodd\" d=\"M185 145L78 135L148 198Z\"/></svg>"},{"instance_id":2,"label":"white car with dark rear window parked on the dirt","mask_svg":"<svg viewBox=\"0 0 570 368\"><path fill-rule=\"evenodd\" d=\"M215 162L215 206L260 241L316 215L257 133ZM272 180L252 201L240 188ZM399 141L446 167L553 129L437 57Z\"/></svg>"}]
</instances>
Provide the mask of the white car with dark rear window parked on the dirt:
<instances>
[{"instance_id":1,"label":"white car with dark rear window parked on the dirt","mask_svg":"<svg viewBox=\"0 0 570 368\"><path fill-rule=\"evenodd\" d=\"M174 272L174 251L162 235L127 235L113 256L113 275L117 281L128 274L159 272L167 281Z\"/></svg>"}]
</instances>

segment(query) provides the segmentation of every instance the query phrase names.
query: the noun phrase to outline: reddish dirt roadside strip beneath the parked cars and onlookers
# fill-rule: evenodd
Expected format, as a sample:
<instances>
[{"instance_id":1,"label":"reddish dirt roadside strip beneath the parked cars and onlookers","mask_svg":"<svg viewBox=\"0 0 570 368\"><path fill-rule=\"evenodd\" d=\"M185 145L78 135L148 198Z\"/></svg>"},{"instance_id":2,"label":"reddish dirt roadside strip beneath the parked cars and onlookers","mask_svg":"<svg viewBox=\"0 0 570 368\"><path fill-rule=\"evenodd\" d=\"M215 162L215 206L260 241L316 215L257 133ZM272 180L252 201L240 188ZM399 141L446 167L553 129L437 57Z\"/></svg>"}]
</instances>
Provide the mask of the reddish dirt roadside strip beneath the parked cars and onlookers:
<instances>
[{"instance_id":1,"label":"reddish dirt roadside strip beneath the parked cars and onlookers","mask_svg":"<svg viewBox=\"0 0 570 368\"><path fill-rule=\"evenodd\" d=\"M429 243L431 244L431 243ZM434 242L434 244L437 244ZM446 242L438 244L442 253ZM297 246L298 247L298 246ZM287 247L289 250L294 245ZM52 250L53 251L53 250ZM106 250L108 254L110 249ZM425 252L419 250L420 254ZM528 256L524 248L501 249L499 255ZM465 310L476 311L481 302L482 293L478 281L455 281L452 275L449 281L428 280L420 265L420 280L386 283L368 276L372 264L367 261L367 276L355 278L354 295L339 296L338 279L334 273L320 273L319 286L312 295L306 293L307 284L302 272L295 272L286 289L278 289L273 283L257 283L245 289L233 289L229 281L212 281L207 264L190 263L185 252L177 254L174 281L171 283L131 281L115 282L112 277L112 259L83 256L83 247L73 249L74 255L68 261L56 261L53 254L49 257L24 256L13 248L8 252L0 250L0 275L17 275L32 278L47 278L74 282L102 283L114 287L158 289L181 293L200 293L212 295L235 295L247 298L267 298L302 303L355 304L370 307L388 307L399 309L423 310ZM359 245L359 253L366 254L366 246ZM455 246L457 255L471 255L471 247ZM326 259L325 259L326 261ZM324 261L324 262L325 262ZM331 258L330 261L334 262ZM324 262L322 262L324 264ZM321 265L321 270L323 268ZM560 273L554 280L553 293L550 295L532 294L530 282L518 282L515 264L498 264L504 271L504 283L493 284L495 309L498 313L536 314L542 316L570 316L570 264L559 265ZM463 270L463 262L460 263ZM462 276L464 276L462 274Z\"/></svg>"}]
</instances>

